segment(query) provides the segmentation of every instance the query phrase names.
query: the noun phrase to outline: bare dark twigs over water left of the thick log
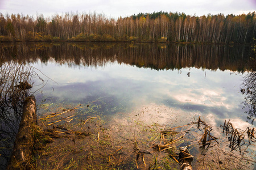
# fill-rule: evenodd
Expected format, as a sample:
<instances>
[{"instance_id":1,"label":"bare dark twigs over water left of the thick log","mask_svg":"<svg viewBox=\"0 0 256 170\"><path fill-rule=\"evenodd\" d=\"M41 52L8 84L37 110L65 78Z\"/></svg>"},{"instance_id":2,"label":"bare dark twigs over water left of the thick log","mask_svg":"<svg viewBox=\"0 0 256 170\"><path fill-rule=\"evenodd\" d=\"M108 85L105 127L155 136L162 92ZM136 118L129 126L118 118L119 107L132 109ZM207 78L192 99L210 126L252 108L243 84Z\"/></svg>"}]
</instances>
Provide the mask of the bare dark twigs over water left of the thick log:
<instances>
[{"instance_id":1,"label":"bare dark twigs over water left of the thick log","mask_svg":"<svg viewBox=\"0 0 256 170\"><path fill-rule=\"evenodd\" d=\"M1 58L2 59L2 56ZM13 150L23 103L29 90L16 86L31 81L30 66L0 60L0 169L5 169ZM16 87L15 87L16 86Z\"/></svg>"}]
</instances>

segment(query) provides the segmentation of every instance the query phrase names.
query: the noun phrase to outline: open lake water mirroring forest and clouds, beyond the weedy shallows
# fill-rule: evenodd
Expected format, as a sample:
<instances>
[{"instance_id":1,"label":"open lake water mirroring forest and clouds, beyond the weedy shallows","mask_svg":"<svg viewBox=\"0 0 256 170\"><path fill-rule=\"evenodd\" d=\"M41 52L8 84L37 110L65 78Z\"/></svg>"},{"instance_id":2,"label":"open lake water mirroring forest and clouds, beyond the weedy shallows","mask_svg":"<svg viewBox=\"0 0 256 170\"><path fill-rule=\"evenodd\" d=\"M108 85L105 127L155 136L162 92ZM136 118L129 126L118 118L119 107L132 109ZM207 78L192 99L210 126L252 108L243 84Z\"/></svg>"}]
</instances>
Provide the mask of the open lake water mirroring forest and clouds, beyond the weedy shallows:
<instances>
[{"instance_id":1,"label":"open lake water mirroring forest and clouds, beyond the weedy shallows","mask_svg":"<svg viewBox=\"0 0 256 170\"><path fill-rule=\"evenodd\" d=\"M73 121L128 115L144 106L170 108L188 124L203 116L211 125L230 120L255 127L245 76L250 46L179 44L6 44L6 61L34 67L38 116L78 104ZM254 76L253 76L254 78ZM253 79L251 78L251 79ZM250 79L250 78L247 78ZM255 92L253 92L255 93ZM247 99L245 97L247 96Z\"/></svg>"}]
</instances>

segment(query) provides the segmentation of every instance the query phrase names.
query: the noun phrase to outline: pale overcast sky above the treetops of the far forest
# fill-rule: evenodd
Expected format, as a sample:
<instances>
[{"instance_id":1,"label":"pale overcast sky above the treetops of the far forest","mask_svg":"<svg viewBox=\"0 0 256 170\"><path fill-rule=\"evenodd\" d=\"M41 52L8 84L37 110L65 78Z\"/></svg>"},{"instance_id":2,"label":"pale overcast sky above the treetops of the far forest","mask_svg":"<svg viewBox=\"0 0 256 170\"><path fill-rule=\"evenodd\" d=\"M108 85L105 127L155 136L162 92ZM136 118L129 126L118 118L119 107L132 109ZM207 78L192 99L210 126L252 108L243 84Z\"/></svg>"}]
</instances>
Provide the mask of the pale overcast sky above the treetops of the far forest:
<instances>
[{"instance_id":1,"label":"pale overcast sky above the treetops of the far forest","mask_svg":"<svg viewBox=\"0 0 256 170\"><path fill-rule=\"evenodd\" d=\"M65 12L96 12L117 19L139 12L185 12L207 14L247 14L256 10L256 0L0 0L2 14L52 16Z\"/></svg>"}]
</instances>

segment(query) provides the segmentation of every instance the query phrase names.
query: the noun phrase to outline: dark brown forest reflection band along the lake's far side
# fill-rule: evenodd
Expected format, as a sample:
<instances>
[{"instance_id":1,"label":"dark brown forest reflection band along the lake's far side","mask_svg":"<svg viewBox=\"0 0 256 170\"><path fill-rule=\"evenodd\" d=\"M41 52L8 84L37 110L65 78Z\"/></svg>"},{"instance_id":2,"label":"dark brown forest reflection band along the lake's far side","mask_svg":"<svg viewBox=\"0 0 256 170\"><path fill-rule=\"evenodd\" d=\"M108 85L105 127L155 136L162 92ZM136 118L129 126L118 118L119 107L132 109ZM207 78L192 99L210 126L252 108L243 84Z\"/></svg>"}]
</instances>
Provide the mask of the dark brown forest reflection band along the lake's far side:
<instances>
[{"instance_id":1,"label":"dark brown forest reflection band along the lake's far side","mask_svg":"<svg viewBox=\"0 0 256 170\"><path fill-rule=\"evenodd\" d=\"M61 43L46 42L4 44L3 61L47 64L55 61L68 67L104 67L117 61L139 68L176 70L187 67L209 70L250 70L249 49L244 45L182 45L129 43Z\"/></svg>"}]
</instances>

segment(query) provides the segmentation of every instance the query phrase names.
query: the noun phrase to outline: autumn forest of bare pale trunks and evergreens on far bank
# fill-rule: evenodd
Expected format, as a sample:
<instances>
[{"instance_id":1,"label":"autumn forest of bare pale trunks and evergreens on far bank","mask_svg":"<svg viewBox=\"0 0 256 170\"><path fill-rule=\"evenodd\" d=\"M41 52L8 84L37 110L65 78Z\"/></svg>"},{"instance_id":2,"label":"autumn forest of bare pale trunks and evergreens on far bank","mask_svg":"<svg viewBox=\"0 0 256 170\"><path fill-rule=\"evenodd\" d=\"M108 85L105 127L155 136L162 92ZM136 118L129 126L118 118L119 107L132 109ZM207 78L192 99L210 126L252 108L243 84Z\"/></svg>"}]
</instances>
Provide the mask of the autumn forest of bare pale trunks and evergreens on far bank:
<instances>
[{"instance_id":1,"label":"autumn forest of bare pale trunks and evergreens on far bank","mask_svg":"<svg viewBox=\"0 0 256 170\"><path fill-rule=\"evenodd\" d=\"M184 13L140 13L118 19L104 14L0 13L0 41L104 41L181 42L233 44L252 43L256 36L256 14L207 16Z\"/></svg>"}]
</instances>

